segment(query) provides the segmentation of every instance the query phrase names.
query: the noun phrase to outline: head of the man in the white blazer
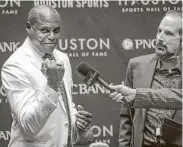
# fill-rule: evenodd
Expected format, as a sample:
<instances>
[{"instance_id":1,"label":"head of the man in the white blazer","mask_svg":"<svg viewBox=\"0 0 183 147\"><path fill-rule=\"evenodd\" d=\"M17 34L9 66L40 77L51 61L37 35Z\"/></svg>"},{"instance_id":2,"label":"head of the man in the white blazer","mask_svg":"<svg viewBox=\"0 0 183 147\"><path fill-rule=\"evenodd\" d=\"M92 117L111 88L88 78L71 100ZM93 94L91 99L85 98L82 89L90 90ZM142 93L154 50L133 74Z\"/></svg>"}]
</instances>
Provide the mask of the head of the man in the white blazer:
<instances>
[{"instance_id":1,"label":"head of the man in the white blazer","mask_svg":"<svg viewBox=\"0 0 183 147\"><path fill-rule=\"evenodd\" d=\"M60 38L60 30L60 15L52 7L38 5L30 10L26 31L35 48L51 53Z\"/></svg>"}]
</instances>

